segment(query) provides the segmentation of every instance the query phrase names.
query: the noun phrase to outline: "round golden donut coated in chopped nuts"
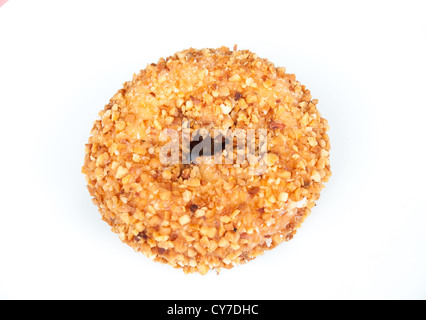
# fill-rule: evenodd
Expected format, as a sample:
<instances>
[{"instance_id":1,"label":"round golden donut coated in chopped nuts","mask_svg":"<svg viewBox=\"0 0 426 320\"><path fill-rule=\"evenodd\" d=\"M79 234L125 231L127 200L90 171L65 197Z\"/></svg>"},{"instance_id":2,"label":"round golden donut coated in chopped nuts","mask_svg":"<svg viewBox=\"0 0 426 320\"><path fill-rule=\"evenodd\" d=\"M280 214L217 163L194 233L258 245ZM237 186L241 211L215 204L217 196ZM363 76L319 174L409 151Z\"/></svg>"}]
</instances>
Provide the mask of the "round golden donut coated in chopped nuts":
<instances>
[{"instance_id":1,"label":"round golden donut coated in chopped nuts","mask_svg":"<svg viewBox=\"0 0 426 320\"><path fill-rule=\"evenodd\" d=\"M293 74L250 51L189 49L160 59L125 83L94 124L83 167L93 202L122 241L155 261L201 274L250 261L293 237L331 175L317 103ZM263 130L265 167L253 171L248 156L226 161L241 153L235 137L226 141L231 152L223 147L226 135L219 148L211 135L211 152L188 159L184 132L192 150L200 129ZM161 157L169 131L179 137L172 163Z\"/></svg>"}]
</instances>

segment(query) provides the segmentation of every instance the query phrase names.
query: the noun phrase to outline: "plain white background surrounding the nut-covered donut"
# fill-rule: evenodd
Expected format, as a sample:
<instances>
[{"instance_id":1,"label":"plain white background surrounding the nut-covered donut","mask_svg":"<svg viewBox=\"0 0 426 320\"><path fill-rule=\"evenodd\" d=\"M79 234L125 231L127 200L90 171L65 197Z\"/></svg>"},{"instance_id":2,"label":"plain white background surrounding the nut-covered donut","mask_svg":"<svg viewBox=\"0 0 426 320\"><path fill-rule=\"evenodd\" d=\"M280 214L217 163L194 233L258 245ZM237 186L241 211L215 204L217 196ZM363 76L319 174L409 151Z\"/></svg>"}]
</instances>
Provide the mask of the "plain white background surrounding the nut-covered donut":
<instances>
[{"instance_id":1,"label":"plain white background surrounding the nut-covered donut","mask_svg":"<svg viewBox=\"0 0 426 320\"><path fill-rule=\"evenodd\" d=\"M426 298L425 1L46 1L0 8L0 298ZM219 276L110 232L80 173L93 121L189 47L287 67L329 120L333 176L296 237Z\"/></svg>"}]
</instances>

